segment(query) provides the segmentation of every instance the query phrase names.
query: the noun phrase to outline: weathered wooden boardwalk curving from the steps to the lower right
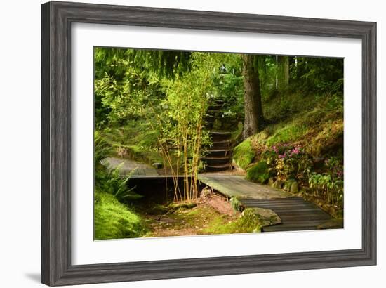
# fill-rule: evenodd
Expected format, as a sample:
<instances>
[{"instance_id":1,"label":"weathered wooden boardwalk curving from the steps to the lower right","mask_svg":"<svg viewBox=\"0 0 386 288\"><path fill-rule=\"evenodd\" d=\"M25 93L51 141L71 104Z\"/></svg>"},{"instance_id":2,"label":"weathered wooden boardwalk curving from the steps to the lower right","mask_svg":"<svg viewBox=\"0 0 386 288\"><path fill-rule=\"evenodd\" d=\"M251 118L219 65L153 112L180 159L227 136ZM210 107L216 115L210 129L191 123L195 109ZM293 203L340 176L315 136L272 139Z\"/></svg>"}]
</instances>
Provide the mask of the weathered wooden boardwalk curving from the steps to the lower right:
<instances>
[{"instance_id":1,"label":"weathered wooden boardwalk curving from the steps to the lower right","mask_svg":"<svg viewBox=\"0 0 386 288\"><path fill-rule=\"evenodd\" d=\"M281 223L262 228L262 232L342 228L317 205L291 193L247 181L243 176L200 174L199 180L227 197L237 197L246 208L265 208L274 211Z\"/></svg>"}]
</instances>

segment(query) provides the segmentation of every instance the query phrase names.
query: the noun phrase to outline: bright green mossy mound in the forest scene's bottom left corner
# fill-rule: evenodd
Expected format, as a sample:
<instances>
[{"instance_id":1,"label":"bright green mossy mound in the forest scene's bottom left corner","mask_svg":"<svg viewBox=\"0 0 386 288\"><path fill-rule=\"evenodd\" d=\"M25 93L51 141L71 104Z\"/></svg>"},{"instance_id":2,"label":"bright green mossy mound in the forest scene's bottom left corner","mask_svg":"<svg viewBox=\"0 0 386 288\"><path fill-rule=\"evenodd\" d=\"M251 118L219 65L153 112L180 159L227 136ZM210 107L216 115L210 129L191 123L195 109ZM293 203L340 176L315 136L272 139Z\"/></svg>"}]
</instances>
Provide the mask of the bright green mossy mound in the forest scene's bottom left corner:
<instances>
[{"instance_id":1,"label":"bright green mossy mound in the forest scene's bottom left corner","mask_svg":"<svg viewBox=\"0 0 386 288\"><path fill-rule=\"evenodd\" d=\"M134 238L145 233L141 218L108 193L96 192L94 199L95 240Z\"/></svg>"}]
</instances>

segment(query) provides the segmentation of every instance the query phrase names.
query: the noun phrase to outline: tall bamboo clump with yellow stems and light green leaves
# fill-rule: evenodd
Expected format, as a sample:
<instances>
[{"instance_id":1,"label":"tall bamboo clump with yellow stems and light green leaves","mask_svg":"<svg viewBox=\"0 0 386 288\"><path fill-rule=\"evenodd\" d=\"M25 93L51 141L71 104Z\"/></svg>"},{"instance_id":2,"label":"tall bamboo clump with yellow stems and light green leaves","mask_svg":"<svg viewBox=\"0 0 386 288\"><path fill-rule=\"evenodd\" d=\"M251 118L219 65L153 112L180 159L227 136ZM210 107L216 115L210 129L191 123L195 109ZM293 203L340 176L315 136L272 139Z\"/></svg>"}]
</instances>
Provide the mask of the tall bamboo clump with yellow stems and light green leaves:
<instances>
[{"instance_id":1,"label":"tall bamboo clump with yellow stems and light green leaves","mask_svg":"<svg viewBox=\"0 0 386 288\"><path fill-rule=\"evenodd\" d=\"M196 179L201 166L201 147L210 143L208 131L204 131L204 117L213 76L219 66L216 55L192 53L189 73L165 81L167 97L163 105L167 108L162 117L157 118L161 131L159 144L165 162L175 176L175 183L180 165L185 178L182 192L175 185L175 199L178 193L184 201L198 197ZM176 159L176 164L172 159Z\"/></svg>"}]
</instances>

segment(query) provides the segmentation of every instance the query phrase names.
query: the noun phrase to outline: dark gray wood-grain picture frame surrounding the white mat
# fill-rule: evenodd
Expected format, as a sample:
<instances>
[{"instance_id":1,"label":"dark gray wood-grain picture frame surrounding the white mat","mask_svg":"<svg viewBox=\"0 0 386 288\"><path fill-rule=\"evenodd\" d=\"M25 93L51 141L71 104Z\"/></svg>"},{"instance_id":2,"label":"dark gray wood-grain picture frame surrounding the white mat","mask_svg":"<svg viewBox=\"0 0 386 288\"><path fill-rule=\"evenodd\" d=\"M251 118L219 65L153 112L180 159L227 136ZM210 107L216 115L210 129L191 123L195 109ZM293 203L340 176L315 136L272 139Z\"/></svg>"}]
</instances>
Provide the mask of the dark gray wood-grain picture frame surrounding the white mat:
<instances>
[{"instance_id":1,"label":"dark gray wood-grain picture frame surrounding the white mat","mask_svg":"<svg viewBox=\"0 0 386 288\"><path fill-rule=\"evenodd\" d=\"M368 266L376 263L376 23L133 6L42 5L42 282L51 286ZM71 265L70 42L73 22L357 38L362 41L361 249Z\"/></svg>"}]
</instances>

